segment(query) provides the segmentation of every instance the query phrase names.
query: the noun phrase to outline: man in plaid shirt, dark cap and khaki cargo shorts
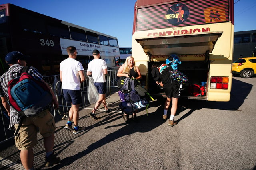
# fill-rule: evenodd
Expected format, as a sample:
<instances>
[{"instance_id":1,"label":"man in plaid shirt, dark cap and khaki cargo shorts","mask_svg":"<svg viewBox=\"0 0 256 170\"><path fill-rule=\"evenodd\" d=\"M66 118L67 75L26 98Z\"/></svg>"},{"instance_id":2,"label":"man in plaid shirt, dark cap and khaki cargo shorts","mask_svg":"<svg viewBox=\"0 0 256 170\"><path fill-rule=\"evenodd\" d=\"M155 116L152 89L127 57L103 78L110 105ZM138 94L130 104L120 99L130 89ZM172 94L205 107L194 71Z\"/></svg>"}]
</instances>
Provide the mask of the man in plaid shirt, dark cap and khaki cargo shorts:
<instances>
[{"instance_id":1,"label":"man in plaid shirt, dark cap and khaki cargo shorts","mask_svg":"<svg viewBox=\"0 0 256 170\"><path fill-rule=\"evenodd\" d=\"M37 128L39 128L40 134L44 137L44 147L46 150L45 166L52 166L60 162L60 158L54 156L53 153L55 122L49 109L51 104L54 104L54 109L56 109L58 101L48 84L42 80L42 75L38 70L30 66L28 74L46 84L52 94L52 102L47 107L44 107L42 111L40 110L39 113L22 117L18 111L8 104L8 82L20 76L24 66L26 66L25 56L18 51L12 51L6 55L5 60L10 68L0 77L0 97L4 108L10 116L9 129L19 129L15 136L15 145L20 150L22 165L26 170L34 169L33 147L37 144ZM40 98L41 96L38 97ZM20 122L21 125L19 126Z\"/></svg>"}]
</instances>

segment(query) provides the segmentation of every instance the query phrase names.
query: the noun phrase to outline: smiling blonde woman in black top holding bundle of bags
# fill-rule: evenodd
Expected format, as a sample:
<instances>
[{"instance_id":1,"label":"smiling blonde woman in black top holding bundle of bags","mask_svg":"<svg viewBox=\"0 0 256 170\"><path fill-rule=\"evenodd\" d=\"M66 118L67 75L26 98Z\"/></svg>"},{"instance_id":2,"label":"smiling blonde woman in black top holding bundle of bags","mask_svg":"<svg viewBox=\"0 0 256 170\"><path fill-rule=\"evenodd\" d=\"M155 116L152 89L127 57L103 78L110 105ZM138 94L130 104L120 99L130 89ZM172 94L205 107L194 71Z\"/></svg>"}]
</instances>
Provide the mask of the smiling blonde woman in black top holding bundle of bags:
<instances>
[{"instance_id":1,"label":"smiling blonde woman in black top holding bundle of bags","mask_svg":"<svg viewBox=\"0 0 256 170\"><path fill-rule=\"evenodd\" d=\"M124 64L120 66L117 72L117 76L118 77L126 76L126 77L141 79L140 69L138 68L138 66L135 65L135 61L132 56L129 56L126 58ZM135 110L134 113L132 114L133 121L136 121L136 112L137 110ZM124 113L123 119L127 123L129 119L128 114Z\"/></svg>"}]
</instances>

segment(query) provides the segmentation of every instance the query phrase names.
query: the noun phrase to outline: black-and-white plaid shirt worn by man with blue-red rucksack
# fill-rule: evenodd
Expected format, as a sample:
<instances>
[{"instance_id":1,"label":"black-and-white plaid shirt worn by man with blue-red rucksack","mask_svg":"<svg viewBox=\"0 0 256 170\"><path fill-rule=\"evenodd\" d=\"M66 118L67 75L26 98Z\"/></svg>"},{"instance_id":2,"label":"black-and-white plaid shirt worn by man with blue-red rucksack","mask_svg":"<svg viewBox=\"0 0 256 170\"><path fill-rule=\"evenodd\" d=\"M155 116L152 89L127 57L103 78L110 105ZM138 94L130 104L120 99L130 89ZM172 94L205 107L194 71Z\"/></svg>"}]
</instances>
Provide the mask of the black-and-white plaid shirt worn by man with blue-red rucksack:
<instances>
[{"instance_id":1,"label":"black-and-white plaid shirt worn by man with blue-red rucksack","mask_svg":"<svg viewBox=\"0 0 256 170\"><path fill-rule=\"evenodd\" d=\"M6 97L8 96L8 82L12 80L13 78L16 78L18 73L20 74L22 72L23 66L20 66L19 64L14 64L10 66L7 72L5 72L0 77L0 97ZM28 69L28 74L33 76L37 80L42 80L42 75L38 72L38 70L32 66ZM12 129L15 124L19 124L20 122L20 115L17 111L15 111L12 107L10 107L10 124L9 129Z\"/></svg>"}]
</instances>

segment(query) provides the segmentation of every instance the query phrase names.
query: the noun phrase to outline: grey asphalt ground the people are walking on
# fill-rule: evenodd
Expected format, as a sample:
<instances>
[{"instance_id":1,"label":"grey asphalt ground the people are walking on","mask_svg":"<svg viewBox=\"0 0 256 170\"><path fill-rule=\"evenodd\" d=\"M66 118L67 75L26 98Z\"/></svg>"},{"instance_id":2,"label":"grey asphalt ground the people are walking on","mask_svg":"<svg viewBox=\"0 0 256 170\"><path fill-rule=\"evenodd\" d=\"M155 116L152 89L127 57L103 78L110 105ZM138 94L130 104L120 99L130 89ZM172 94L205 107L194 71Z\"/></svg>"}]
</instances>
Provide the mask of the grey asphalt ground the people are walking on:
<instances>
[{"instance_id":1,"label":"grey asphalt ground the people are walking on","mask_svg":"<svg viewBox=\"0 0 256 170\"><path fill-rule=\"evenodd\" d=\"M73 135L56 119L54 152L62 159L52 169L60 170L252 170L256 169L256 77L233 78L230 102L180 100L175 120L162 120L164 98L150 102L137 115L140 122L124 123L119 97L107 101L112 113L93 106L80 111L83 133ZM168 114L170 116L170 113ZM34 165L44 168L44 147L38 135ZM2 160L1 160L2 158ZM1 146L0 168L22 167L14 145Z\"/></svg>"}]
</instances>

